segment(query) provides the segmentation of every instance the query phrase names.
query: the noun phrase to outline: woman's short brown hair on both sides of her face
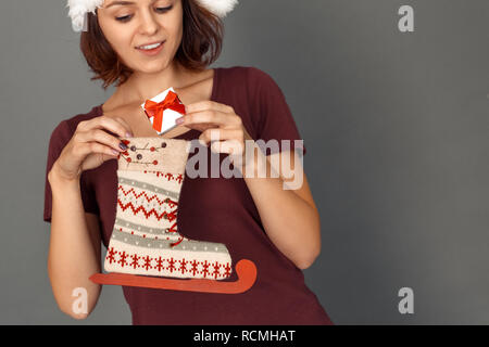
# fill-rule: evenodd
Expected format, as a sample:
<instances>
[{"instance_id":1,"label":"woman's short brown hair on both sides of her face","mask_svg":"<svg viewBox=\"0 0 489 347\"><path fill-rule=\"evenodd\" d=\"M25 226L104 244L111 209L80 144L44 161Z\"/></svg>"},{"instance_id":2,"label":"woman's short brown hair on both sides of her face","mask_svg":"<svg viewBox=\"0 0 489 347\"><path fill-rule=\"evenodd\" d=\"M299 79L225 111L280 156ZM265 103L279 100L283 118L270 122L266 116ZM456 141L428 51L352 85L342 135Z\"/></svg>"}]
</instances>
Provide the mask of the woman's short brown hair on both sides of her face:
<instances>
[{"instance_id":1,"label":"woman's short brown hair on both sides of her face","mask_svg":"<svg viewBox=\"0 0 489 347\"><path fill-rule=\"evenodd\" d=\"M195 0L181 0L181 5L184 34L174 59L188 69L202 70L221 54L224 26L215 14ZM91 80L103 80L103 89L113 83L121 86L133 70L124 65L105 39L96 14L88 13L87 28L88 31L82 33L79 46L95 74Z\"/></svg>"}]
</instances>

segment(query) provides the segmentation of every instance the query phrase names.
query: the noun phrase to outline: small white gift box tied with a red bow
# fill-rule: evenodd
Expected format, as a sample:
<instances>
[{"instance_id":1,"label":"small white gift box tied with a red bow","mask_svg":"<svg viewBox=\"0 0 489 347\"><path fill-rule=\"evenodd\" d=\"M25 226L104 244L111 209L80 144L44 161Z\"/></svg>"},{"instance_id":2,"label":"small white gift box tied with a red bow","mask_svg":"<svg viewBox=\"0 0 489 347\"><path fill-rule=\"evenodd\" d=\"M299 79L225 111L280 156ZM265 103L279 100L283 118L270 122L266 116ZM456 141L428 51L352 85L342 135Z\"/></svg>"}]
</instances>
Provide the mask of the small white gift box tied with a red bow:
<instances>
[{"instance_id":1,"label":"small white gift box tied with a red bow","mask_svg":"<svg viewBox=\"0 0 489 347\"><path fill-rule=\"evenodd\" d=\"M158 134L175 128L177 126L175 120L185 115L185 105L173 88L168 88L156 97L147 100L141 104L141 107Z\"/></svg>"}]
</instances>

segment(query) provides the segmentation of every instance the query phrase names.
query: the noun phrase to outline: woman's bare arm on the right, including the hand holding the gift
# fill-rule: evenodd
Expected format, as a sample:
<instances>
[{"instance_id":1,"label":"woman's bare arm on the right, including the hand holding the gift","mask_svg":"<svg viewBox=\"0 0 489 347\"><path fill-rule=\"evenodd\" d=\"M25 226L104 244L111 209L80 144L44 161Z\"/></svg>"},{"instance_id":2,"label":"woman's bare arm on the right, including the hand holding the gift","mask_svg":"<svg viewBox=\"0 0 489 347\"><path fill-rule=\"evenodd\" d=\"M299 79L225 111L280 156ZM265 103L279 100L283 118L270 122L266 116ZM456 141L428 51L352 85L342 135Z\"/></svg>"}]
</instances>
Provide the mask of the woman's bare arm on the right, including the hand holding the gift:
<instances>
[{"instance_id":1,"label":"woman's bare arm on the right, including the hand holding the gift","mask_svg":"<svg viewBox=\"0 0 489 347\"><path fill-rule=\"evenodd\" d=\"M274 159L280 154L265 158L253 138L244 129L241 117L236 115L231 106L203 101L186 105L186 111L187 114L179 118L180 124L202 131L199 140L210 145L215 153L230 154L231 162L242 171L263 227L272 242L297 267L301 269L310 267L321 252L319 214L298 156L291 154L293 152L288 152L290 167L297 166L293 172L303 179L303 184L299 190L285 190L283 188L285 178L290 180L288 172L281 172L280 167L273 166L277 172L276 178L272 175L264 175L266 178L258 175L264 166L269 172L268 159L275 163ZM214 128L215 125L218 128ZM214 142L211 144L211 141ZM253 151L248 153L246 143L250 142L258 155L253 155ZM249 169L250 166L251 169ZM251 171L250 175L247 171ZM292 177L291 180L296 181L296 178Z\"/></svg>"}]
</instances>

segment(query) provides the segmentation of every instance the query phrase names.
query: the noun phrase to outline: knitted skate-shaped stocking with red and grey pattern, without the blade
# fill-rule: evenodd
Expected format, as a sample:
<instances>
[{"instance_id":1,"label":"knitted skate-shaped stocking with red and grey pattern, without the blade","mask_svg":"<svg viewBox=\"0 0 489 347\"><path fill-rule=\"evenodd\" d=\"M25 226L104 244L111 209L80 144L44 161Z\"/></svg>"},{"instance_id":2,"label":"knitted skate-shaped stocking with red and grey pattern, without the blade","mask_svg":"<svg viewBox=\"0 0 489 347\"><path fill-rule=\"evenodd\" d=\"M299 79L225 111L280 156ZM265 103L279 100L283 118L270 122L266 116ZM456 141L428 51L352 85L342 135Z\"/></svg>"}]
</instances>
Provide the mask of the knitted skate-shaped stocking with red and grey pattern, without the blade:
<instances>
[{"instance_id":1,"label":"knitted skate-shaped stocking with red and grey pattern, without the blade","mask_svg":"<svg viewBox=\"0 0 489 347\"><path fill-rule=\"evenodd\" d=\"M117 213L104 261L109 272L223 280L231 258L224 244L177 231L178 200L190 141L129 138L117 167Z\"/></svg>"}]
</instances>

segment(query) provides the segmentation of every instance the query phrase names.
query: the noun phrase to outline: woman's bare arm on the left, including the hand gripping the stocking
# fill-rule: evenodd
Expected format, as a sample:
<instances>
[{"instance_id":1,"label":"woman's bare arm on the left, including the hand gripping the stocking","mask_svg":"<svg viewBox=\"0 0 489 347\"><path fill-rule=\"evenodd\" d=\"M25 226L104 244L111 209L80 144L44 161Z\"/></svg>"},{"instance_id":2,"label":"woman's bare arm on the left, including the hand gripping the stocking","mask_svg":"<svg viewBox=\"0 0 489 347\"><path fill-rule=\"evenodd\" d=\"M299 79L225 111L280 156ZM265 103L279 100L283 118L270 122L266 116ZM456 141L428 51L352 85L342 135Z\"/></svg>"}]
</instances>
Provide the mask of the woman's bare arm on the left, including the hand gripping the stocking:
<instances>
[{"instance_id":1,"label":"woman's bare arm on the left, including the hand gripping the stocking","mask_svg":"<svg viewBox=\"0 0 489 347\"><path fill-rule=\"evenodd\" d=\"M101 291L99 284L89 280L101 269L101 235L98 217L85 213L82 172L115 159L124 151L118 138L105 130L123 137L130 128L124 119L108 116L80 121L74 132L61 123L51 136L48 154L52 204L48 273L58 306L76 319L88 317ZM86 291L86 312L73 310L73 304L84 299L74 293L76 288Z\"/></svg>"}]
</instances>

